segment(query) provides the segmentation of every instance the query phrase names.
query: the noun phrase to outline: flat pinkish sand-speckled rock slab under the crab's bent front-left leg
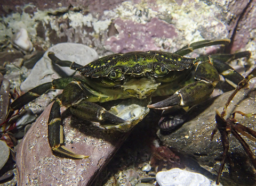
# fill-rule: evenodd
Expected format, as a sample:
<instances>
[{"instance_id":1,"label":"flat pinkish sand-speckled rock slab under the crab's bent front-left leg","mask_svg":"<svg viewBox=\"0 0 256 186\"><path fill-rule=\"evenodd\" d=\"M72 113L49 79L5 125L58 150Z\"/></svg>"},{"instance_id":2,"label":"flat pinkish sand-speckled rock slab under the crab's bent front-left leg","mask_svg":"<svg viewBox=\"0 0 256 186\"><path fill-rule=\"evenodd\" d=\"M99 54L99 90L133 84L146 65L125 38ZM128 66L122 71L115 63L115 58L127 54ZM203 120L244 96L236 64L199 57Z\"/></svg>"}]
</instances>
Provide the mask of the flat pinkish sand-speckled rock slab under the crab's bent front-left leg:
<instances>
[{"instance_id":1,"label":"flat pinkish sand-speckled rock slab under the crab's bent front-left leg","mask_svg":"<svg viewBox=\"0 0 256 186\"><path fill-rule=\"evenodd\" d=\"M91 185L129 132L103 130L91 123L85 125L86 121L67 117L63 120L66 147L90 157L61 157L53 154L47 138L51 105L31 126L18 148L18 185Z\"/></svg>"}]
</instances>

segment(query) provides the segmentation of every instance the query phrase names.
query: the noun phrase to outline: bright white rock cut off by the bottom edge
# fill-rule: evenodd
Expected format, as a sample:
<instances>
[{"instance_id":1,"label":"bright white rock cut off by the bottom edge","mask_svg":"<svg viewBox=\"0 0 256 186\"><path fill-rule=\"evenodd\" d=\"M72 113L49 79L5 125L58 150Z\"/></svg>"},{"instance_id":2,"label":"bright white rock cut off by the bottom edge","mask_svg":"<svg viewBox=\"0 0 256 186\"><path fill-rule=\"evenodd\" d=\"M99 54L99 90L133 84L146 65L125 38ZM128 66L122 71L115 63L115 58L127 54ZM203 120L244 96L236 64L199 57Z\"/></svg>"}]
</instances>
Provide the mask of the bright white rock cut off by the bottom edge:
<instances>
[{"instance_id":1,"label":"bright white rock cut off by the bottom edge","mask_svg":"<svg viewBox=\"0 0 256 186\"><path fill-rule=\"evenodd\" d=\"M161 171L156 174L157 183L160 186L213 186L216 185L202 174L173 168L169 171ZM221 184L220 184L221 186Z\"/></svg>"}]
</instances>

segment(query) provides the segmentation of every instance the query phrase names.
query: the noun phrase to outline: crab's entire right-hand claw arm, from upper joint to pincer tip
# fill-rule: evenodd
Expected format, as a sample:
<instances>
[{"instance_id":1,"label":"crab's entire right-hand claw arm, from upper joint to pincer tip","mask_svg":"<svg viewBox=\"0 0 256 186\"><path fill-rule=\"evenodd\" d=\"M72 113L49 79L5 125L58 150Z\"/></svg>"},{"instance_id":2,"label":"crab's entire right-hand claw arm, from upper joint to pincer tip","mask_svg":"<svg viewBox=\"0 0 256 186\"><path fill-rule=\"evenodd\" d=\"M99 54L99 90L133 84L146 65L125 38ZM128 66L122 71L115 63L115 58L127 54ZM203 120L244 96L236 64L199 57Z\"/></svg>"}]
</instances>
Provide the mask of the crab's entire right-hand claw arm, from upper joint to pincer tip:
<instances>
[{"instance_id":1,"label":"crab's entire right-hand claw arm, from upper joint to pincer tip","mask_svg":"<svg viewBox=\"0 0 256 186\"><path fill-rule=\"evenodd\" d=\"M169 109L174 105L182 107L192 106L203 102L212 94L215 85L220 80L217 70L208 62L200 63L195 71L195 79L198 80L176 91L171 97L161 102L148 105L154 109Z\"/></svg>"}]
</instances>

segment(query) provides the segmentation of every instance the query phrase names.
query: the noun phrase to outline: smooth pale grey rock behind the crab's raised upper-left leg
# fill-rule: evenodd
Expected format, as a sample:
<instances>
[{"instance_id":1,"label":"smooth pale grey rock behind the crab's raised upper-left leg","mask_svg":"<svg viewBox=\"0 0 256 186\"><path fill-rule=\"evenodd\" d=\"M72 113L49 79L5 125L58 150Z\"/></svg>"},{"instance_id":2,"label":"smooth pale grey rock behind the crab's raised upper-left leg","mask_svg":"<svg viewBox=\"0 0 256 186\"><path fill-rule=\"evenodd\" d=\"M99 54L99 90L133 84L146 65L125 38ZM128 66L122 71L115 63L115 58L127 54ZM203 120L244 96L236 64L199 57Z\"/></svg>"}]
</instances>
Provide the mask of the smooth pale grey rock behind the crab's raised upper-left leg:
<instances>
[{"instance_id":1,"label":"smooth pale grey rock behind the crab's raised upper-left leg","mask_svg":"<svg viewBox=\"0 0 256 186\"><path fill-rule=\"evenodd\" d=\"M52 62L47 56L48 52L54 52L61 60L75 61L78 64L86 65L98 58L98 54L94 49L75 43L60 43L49 48L44 56L33 67L28 78L21 83L20 89L22 91L28 91L39 84L50 82L53 79L60 78L60 75L56 74L53 69ZM59 67L67 75L74 74L74 70L69 67ZM63 72L62 72L63 73Z\"/></svg>"}]
</instances>

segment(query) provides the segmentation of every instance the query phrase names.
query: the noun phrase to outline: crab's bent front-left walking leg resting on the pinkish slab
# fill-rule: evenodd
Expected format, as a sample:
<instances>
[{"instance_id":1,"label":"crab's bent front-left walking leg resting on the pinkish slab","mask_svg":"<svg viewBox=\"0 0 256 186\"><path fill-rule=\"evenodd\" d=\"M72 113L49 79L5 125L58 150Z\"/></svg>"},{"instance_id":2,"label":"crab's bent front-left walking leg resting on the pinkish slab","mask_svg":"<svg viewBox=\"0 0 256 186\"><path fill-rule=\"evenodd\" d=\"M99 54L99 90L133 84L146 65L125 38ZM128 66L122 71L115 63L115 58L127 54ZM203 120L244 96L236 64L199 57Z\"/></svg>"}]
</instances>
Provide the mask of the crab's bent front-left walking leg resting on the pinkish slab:
<instances>
[{"instance_id":1,"label":"crab's bent front-left walking leg resting on the pinkish slab","mask_svg":"<svg viewBox=\"0 0 256 186\"><path fill-rule=\"evenodd\" d=\"M60 118L61 102L57 98L52 105L48 120L48 138L49 144L53 151L64 154L71 158L83 159L89 156L75 154L72 150L63 145L63 125Z\"/></svg>"}]
</instances>

